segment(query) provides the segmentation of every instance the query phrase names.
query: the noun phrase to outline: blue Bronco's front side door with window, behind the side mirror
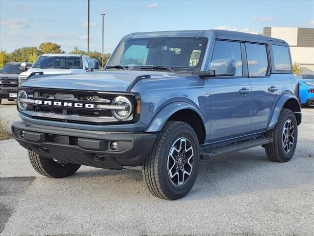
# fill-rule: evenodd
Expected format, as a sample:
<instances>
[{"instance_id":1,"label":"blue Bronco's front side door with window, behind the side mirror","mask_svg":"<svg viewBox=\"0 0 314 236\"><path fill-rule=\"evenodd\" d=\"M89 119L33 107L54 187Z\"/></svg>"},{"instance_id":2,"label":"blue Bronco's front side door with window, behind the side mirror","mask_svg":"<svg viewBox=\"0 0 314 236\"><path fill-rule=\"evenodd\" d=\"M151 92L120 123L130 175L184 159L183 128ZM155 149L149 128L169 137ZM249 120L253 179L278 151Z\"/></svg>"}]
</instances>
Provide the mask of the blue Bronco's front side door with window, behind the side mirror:
<instances>
[{"instance_id":1,"label":"blue Bronco's front side door with window, behind the side mirror","mask_svg":"<svg viewBox=\"0 0 314 236\"><path fill-rule=\"evenodd\" d=\"M233 60L235 74L219 74L219 64ZM210 141L233 138L251 130L251 83L247 75L244 43L217 40L209 70L215 69L216 77L209 77L211 101Z\"/></svg>"}]
</instances>

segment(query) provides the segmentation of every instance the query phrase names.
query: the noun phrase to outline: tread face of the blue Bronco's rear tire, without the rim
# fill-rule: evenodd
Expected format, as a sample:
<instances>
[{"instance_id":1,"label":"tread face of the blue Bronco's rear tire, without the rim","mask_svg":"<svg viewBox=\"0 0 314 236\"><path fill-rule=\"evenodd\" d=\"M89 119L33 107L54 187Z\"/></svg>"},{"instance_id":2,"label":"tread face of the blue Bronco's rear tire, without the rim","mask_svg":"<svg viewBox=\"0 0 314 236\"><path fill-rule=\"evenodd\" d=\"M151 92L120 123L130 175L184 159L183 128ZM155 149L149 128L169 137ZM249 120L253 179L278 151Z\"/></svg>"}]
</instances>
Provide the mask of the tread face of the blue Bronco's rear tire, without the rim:
<instances>
[{"instance_id":1,"label":"tread face of the blue Bronco's rear tire, without the rim","mask_svg":"<svg viewBox=\"0 0 314 236\"><path fill-rule=\"evenodd\" d=\"M274 142L265 145L266 155L267 155L268 159L271 160L271 161L287 162L287 160L281 158L281 155L280 155L280 153L278 151L280 147L278 146L277 140L278 140L278 138L281 138L281 137L279 137L281 135L281 132L282 132L280 130L280 125L281 125L282 122L285 121L285 120L283 120L283 118L289 112L292 113L292 111L289 110L289 109L283 109L281 111L281 113L280 113L280 116L279 116L279 119L278 119L278 122L277 122L276 126L272 130L269 130L265 134L265 137L271 138L271 139L274 140Z\"/></svg>"}]
</instances>

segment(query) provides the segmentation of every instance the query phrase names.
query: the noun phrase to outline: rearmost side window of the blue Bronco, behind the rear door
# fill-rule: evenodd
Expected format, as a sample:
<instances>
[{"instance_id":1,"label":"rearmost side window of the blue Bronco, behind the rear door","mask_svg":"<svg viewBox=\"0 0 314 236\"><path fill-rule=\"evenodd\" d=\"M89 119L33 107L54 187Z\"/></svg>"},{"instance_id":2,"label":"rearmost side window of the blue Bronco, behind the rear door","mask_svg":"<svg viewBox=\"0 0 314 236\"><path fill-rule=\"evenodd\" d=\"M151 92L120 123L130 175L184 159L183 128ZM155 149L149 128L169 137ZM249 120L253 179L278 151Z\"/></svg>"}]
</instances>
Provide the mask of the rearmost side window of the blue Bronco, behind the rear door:
<instances>
[{"instance_id":1,"label":"rearmost side window of the blue Bronco, behind the rear door","mask_svg":"<svg viewBox=\"0 0 314 236\"><path fill-rule=\"evenodd\" d=\"M288 47L273 45L275 70L291 70Z\"/></svg>"}]
</instances>

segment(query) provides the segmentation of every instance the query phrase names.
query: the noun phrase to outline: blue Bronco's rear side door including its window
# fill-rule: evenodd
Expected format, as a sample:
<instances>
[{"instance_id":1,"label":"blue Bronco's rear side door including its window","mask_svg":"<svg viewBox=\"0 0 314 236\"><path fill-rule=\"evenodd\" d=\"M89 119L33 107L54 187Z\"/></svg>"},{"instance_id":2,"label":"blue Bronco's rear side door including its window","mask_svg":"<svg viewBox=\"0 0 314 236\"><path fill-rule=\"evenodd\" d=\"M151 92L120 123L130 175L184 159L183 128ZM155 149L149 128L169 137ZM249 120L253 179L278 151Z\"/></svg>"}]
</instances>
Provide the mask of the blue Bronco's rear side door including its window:
<instances>
[{"instance_id":1,"label":"blue Bronco's rear side door including its window","mask_svg":"<svg viewBox=\"0 0 314 236\"><path fill-rule=\"evenodd\" d=\"M249 78L252 84L252 131L267 129L276 105L279 86L270 73L269 50L265 44L245 43Z\"/></svg>"}]
</instances>

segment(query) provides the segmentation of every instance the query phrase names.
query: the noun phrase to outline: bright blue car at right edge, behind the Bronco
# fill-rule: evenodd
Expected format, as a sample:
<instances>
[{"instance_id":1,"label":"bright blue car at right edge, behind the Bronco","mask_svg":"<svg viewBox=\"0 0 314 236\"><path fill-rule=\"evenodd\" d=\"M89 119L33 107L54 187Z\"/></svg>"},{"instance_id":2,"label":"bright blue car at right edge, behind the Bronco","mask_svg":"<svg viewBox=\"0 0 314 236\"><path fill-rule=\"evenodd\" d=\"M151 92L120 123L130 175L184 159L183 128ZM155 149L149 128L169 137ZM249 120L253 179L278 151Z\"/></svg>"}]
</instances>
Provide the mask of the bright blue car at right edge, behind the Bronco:
<instances>
[{"instance_id":1,"label":"bright blue car at right edge, behind the Bronco","mask_svg":"<svg viewBox=\"0 0 314 236\"><path fill-rule=\"evenodd\" d=\"M301 106L314 105L314 74L297 74L299 82L299 100Z\"/></svg>"}]
</instances>

